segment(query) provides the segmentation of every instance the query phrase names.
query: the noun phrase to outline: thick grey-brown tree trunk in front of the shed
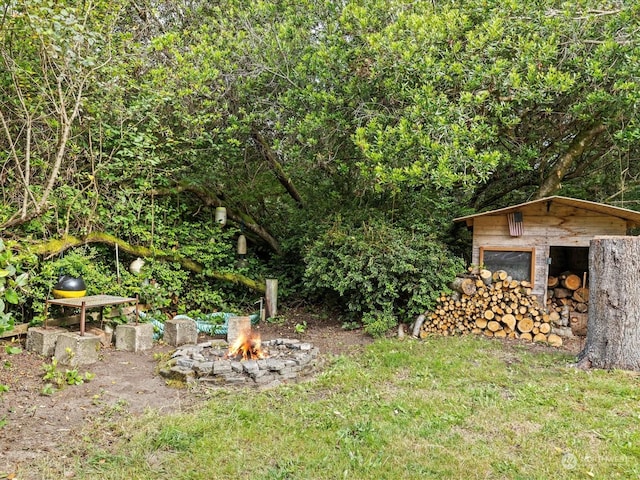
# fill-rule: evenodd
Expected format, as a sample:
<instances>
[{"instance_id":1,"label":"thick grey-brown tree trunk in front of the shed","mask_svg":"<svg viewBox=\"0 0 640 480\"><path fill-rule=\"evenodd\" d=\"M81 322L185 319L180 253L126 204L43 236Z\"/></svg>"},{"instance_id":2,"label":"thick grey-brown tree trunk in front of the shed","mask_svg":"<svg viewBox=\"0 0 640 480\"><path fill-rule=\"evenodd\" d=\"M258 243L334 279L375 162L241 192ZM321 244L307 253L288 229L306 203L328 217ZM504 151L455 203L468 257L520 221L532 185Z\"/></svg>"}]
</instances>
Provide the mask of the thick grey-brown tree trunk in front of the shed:
<instances>
[{"instance_id":1,"label":"thick grey-brown tree trunk in front of the shed","mask_svg":"<svg viewBox=\"0 0 640 480\"><path fill-rule=\"evenodd\" d=\"M587 343L578 365L640 370L640 237L600 237L589 247Z\"/></svg>"}]
</instances>

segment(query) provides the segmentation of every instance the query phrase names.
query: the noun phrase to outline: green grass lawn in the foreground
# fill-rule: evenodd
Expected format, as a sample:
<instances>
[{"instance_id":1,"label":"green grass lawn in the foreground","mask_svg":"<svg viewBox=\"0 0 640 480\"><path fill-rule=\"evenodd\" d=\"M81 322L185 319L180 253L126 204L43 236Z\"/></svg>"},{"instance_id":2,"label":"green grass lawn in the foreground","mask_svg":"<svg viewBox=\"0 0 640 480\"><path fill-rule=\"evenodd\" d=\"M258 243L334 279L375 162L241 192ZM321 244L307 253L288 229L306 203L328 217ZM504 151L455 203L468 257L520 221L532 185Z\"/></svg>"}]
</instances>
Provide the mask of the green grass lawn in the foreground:
<instances>
[{"instance_id":1,"label":"green grass lawn in the foreground","mask_svg":"<svg viewBox=\"0 0 640 480\"><path fill-rule=\"evenodd\" d=\"M638 478L639 377L573 360L476 337L381 340L303 384L113 424L110 444L102 422L68 455L76 479ZM41 478L62 478L56 462Z\"/></svg>"}]
</instances>

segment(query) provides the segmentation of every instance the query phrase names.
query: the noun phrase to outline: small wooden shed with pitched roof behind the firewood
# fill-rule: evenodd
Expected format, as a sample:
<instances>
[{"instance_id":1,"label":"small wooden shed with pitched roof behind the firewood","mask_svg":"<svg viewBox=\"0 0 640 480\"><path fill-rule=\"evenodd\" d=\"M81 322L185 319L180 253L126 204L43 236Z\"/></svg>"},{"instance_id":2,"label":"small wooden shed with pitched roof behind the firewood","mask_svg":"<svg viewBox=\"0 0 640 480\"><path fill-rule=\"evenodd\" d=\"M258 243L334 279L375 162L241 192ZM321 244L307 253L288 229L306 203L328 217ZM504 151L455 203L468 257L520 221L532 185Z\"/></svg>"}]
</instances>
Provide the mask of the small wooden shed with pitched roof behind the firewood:
<instances>
[{"instance_id":1,"label":"small wooden shed with pitched roof behind the firewood","mask_svg":"<svg viewBox=\"0 0 640 480\"><path fill-rule=\"evenodd\" d=\"M588 275L591 239L627 235L640 226L640 212L553 196L454 221L473 229L474 265L528 280L546 300L549 275Z\"/></svg>"}]
</instances>

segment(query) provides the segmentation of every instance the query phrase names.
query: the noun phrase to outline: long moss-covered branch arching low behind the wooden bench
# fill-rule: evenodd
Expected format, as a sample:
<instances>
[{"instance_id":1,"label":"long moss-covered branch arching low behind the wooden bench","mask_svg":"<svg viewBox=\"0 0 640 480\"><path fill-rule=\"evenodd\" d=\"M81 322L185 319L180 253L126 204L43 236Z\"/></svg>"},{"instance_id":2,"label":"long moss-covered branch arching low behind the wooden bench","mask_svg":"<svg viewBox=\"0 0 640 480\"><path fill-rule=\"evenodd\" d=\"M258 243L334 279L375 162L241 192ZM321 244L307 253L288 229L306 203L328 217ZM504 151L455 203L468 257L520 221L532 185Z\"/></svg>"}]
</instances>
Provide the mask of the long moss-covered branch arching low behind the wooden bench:
<instances>
[{"instance_id":1,"label":"long moss-covered branch arching low behind the wooden bench","mask_svg":"<svg viewBox=\"0 0 640 480\"><path fill-rule=\"evenodd\" d=\"M60 239L47 240L42 243L30 245L28 247L30 253L43 256L56 255L72 247L78 247L80 245L86 245L88 243L102 243L106 245L116 246L120 250L123 250L131 255L135 255L143 258L153 258L154 260L163 260L167 262L179 263L186 270L190 270L195 273L201 273L206 277L221 280L223 282L231 282L237 285L244 285L251 290L263 293L265 291L265 285L263 282L252 280L238 273L232 272L216 272L205 268L200 262L197 262L191 258L180 255L176 252L166 252L157 248L151 249L147 247L141 247L131 245L113 235L103 232L93 232L84 237L74 237L66 235Z\"/></svg>"}]
</instances>

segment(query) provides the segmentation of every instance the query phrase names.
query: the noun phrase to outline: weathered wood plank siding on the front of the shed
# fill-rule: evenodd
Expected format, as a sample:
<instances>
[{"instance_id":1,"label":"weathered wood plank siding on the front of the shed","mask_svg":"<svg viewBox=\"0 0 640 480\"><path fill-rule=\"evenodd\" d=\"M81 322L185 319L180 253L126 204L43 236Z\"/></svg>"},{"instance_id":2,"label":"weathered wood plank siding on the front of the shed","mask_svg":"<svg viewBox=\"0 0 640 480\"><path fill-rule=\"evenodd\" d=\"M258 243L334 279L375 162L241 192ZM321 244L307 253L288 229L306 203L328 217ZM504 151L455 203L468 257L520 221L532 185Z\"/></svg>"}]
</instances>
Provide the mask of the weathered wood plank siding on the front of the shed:
<instances>
[{"instance_id":1,"label":"weathered wood plank siding on the front of the shed","mask_svg":"<svg viewBox=\"0 0 640 480\"><path fill-rule=\"evenodd\" d=\"M472 262L480 263L480 247L534 247L535 278L533 292L544 296L549 272L549 247L589 247L599 235L626 235L626 220L564 205L533 204L520 209L524 234L509 234L507 215L479 216L473 222Z\"/></svg>"}]
</instances>

